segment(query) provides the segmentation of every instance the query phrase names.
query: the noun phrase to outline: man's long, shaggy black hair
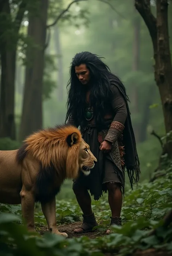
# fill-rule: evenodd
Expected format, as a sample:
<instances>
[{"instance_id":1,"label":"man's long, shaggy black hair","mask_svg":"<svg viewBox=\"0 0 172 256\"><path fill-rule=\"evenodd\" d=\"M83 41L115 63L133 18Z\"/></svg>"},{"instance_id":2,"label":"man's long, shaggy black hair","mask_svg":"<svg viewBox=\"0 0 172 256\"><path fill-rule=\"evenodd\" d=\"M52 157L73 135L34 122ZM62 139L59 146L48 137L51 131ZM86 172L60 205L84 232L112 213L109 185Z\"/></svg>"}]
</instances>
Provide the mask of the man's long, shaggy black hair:
<instances>
[{"instance_id":1,"label":"man's long, shaggy black hair","mask_svg":"<svg viewBox=\"0 0 172 256\"><path fill-rule=\"evenodd\" d=\"M112 97L112 87L110 81L120 88L126 95L126 89L119 77L111 73L110 68L98 57L97 54L90 52L77 53L72 59L70 66L70 79L67 83L68 99L66 121L72 116L75 122L81 124L85 115L86 107L86 87L79 81L75 66L85 64L90 71L90 103L93 106L95 122L98 125L103 124L103 116L107 105L110 104Z\"/></svg>"}]
</instances>

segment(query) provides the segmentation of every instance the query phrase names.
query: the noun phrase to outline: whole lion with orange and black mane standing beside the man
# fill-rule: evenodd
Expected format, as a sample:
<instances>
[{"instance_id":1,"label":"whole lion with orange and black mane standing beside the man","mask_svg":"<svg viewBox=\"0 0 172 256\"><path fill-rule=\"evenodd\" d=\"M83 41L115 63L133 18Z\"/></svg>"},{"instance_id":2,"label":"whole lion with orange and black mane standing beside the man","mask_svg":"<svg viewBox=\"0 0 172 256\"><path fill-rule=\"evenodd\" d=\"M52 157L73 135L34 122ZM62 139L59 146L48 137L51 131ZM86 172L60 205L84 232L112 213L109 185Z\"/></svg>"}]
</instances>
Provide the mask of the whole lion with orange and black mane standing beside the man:
<instances>
[{"instance_id":1,"label":"whole lion with orange and black mane standing beside the man","mask_svg":"<svg viewBox=\"0 0 172 256\"><path fill-rule=\"evenodd\" d=\"M67 237L57 228L55 196L65 179L89 175L95 162L76 127L37 131L20 149L0 151L0 203L21 204L28 231L35 231L34 205L41 203L49 231Z\"/></svg>"}]
</instances>

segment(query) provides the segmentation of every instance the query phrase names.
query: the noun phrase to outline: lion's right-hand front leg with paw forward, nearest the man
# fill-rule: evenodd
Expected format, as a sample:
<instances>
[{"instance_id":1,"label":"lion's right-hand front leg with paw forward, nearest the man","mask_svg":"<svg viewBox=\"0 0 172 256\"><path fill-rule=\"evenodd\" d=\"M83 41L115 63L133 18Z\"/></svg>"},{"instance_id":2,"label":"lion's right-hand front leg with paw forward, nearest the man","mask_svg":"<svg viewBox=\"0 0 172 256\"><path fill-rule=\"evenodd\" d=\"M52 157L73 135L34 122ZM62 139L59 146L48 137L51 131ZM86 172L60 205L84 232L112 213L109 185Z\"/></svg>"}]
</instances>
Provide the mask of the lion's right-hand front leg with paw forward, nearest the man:
<instances>
[{"instance_id":1,"label":"lion's right-hand front leg with paw forward, nearest the man","mask_svg":"<svg viewBox=\"0 0 172 256\"><path fill-rule=\"evenodd\" d=\"M41 203L42 212L45 216L46 222L48 224L48 229L50 232L57 235L62 235L67 237L66 233L61 233L58 231L56 224L56 198L54 197L52 201L48 203Z\"/></svg>"}]
</instances>

